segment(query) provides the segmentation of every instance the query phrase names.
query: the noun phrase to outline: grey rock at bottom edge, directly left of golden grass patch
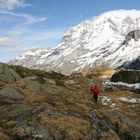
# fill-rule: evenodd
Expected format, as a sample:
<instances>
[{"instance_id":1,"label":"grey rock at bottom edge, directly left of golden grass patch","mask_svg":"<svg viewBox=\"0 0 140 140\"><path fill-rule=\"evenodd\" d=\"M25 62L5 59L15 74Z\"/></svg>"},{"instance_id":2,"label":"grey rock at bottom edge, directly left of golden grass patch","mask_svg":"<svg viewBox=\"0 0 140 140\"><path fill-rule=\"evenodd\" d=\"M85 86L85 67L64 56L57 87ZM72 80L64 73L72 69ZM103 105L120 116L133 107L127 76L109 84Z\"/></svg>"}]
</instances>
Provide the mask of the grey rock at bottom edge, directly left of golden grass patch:
<instances>
[{"instance_id":1,"label":"grey rock at bottom edge, directly left of golden grass patch","mask_svg":"<svg viewBox=\"0 0 140 140\"><path fill-rule=\"evenodd\" d=\"M30 124L28 123L30 121ZM16 126L17 132L25 131L25 139L30 140L64 140L62 132L55 130L49 125L40 124L35 118L24 121ZM22 138L22 137L19 137Z\"/></svg>"}]
</instances>

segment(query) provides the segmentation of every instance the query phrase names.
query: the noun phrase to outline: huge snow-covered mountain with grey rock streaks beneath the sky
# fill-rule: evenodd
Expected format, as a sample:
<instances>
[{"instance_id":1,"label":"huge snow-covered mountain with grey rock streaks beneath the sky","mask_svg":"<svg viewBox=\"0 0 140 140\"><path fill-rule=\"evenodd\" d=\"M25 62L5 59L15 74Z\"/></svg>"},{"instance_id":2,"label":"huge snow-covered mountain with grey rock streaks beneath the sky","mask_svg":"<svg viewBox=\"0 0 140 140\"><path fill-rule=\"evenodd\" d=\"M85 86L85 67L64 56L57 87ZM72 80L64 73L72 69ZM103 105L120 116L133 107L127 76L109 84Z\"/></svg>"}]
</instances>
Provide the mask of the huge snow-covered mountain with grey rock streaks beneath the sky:
<instances>
[{"instance_id":1,"label":"huge snow-covered mountain with grey rock streaks beneath the sky","mask_svg":"<svg viewBox=\"0 0 140 140\"><path fill-rule=\"evenodd\" d=\"M29 50L14 65L64 74L118 67L140 56L140 11L116 10L72 27L55 49Z\"/></svg>"}]
</instances>

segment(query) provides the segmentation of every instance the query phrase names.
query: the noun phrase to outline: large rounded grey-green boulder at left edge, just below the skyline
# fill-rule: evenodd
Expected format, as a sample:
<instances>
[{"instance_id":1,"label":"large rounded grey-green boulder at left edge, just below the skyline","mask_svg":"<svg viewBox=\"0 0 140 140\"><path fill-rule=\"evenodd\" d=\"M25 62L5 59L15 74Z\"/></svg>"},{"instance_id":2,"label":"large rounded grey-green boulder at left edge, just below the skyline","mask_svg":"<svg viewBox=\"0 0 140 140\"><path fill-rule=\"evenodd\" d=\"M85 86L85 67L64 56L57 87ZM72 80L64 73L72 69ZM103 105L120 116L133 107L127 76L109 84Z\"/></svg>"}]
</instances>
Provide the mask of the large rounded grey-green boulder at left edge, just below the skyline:
<instances>
[{"instance_id":1,"label":"large rounded grey-green boulder at left edge, just below the skyline","mask_svg":"<svg viewBox=\"0 0 140 140\"><path fill-rule=\"evenodd\" d=\"M0 81L12 83L19 80L20 78L21 77L16 73L15 70L6 64L0 63Z\"/></svg>"}]
</instances>

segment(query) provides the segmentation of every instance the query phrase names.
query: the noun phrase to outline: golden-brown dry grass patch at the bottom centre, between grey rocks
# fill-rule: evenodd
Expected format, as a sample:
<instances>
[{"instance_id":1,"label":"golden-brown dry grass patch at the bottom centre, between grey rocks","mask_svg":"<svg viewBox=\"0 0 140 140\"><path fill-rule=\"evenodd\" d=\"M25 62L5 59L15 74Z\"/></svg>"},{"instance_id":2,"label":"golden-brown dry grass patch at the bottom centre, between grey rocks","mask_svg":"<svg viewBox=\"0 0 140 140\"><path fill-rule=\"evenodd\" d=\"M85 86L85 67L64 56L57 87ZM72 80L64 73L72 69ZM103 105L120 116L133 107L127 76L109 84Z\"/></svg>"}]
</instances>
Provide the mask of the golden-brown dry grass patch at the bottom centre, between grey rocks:
<instances>
[{"instance_id":1,"label":"golden-brown dry grass patch at the bottom centre, between grey rocks","mask_svg":"<svg viewBox=\"0 0 140 140\"><path fill-rule=\"evenodd\" d=\"M51 125L65 133L66 140L83 139L90 129L90 123L86 120L70 116L39 116L42 124Z\"/></svg>"}]
</instances>

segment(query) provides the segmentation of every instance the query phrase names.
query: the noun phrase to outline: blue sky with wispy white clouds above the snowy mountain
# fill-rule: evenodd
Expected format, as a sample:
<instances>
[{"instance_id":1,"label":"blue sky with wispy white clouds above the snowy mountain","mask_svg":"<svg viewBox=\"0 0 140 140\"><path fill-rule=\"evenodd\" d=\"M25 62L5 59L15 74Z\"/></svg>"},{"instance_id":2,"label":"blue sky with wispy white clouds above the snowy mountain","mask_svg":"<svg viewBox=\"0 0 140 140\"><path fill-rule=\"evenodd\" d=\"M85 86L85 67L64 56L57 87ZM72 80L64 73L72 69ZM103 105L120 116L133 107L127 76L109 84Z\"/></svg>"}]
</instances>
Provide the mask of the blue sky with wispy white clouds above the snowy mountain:
<instances>
[{"instance_id":1,"label":"blue sky with wispy white clouds above the snowy mountain","mask_svg":"<svg viewBox=\"0 0 140 140\"><path fill-rule=\"evenodd\" d=\"M81 21L117 9L140 9L140 0L0 0L0 62L36 47L55 47Z\"/></svg>"}]
</instances>

